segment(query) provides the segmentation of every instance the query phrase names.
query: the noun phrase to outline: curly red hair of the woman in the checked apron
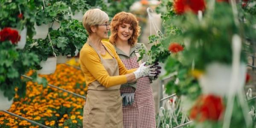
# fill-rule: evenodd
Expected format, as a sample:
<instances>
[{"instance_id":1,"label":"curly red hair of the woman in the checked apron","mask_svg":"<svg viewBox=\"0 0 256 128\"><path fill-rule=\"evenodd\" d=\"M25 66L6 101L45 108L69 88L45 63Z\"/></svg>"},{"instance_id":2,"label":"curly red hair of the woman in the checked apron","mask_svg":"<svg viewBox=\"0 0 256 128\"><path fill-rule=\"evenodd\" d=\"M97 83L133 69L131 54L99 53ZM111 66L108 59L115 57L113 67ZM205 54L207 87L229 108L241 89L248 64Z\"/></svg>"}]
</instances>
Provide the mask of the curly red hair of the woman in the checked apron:
<instances>
[{"instance_id":1,"label":"curly red hair of the woman in the checked apron","mask_svg":"<svg viewBox=\"0 0 256 128\"><path fill-rule=\"evenodd\" d=\"M112 44L116 44L117 29L119 25L123 23L131 24L133 28L133 33L131 35L131 38L128 39L128 44L135 45L137 42L138 36L140 35L140 26L135 15L128 12L119 12L113 17L111 21L111 36L109 38L109 41Z\"/></svg>"}]
</instances>

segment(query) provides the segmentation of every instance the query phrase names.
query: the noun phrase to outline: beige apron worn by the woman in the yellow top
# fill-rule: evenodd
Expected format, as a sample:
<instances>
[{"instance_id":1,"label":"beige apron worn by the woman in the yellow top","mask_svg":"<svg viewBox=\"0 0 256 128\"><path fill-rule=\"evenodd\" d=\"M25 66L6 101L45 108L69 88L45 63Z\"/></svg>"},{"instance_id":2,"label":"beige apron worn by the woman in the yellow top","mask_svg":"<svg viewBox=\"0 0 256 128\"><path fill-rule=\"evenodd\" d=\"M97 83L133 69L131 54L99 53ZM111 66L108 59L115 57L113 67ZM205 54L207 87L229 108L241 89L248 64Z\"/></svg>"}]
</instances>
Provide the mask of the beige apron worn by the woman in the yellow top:
<instances>
[{"instance_id":1,"label":"beige apron worn by the woman in the yellow top","mask_svg":"<svg viewBox=\"0 0 256 128\"><path fill-rule=\"evenodd\" d=\"M102 65L108 71L109 76L118 76L119 67L117 61L106 47L105 49L113 59L103 59L95 51L99 55ZM106 88L99 81L93 81L88 86L87 99L86 103L84 103L83 128L123 128L120 86Z\"/></svg>"}]
</instances>

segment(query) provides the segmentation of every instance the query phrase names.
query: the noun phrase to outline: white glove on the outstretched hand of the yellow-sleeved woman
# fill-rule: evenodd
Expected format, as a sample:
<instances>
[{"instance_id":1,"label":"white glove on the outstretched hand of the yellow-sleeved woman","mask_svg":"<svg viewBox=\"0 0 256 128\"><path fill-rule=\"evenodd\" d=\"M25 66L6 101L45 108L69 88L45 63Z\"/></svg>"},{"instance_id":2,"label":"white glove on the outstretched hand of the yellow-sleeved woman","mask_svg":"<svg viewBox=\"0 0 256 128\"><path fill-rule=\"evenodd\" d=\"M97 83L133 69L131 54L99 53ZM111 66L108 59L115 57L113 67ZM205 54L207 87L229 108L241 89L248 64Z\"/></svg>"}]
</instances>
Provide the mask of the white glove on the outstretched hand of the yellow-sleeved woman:
<instances>
[{"instance_id":1,"label":"white glove on the outstretched hand of the yellow-sleeved woman","mask_svg":"<svg viewBox=\"0 0 256 128\"><path fill-rule=\"evenodd\" d=\"M151 69L152 65L145 66L145 63L140 64L140 67L134 72L135 78L139 79L144 76L156 76L155 69Z\"/></svg>"}]
</instances>

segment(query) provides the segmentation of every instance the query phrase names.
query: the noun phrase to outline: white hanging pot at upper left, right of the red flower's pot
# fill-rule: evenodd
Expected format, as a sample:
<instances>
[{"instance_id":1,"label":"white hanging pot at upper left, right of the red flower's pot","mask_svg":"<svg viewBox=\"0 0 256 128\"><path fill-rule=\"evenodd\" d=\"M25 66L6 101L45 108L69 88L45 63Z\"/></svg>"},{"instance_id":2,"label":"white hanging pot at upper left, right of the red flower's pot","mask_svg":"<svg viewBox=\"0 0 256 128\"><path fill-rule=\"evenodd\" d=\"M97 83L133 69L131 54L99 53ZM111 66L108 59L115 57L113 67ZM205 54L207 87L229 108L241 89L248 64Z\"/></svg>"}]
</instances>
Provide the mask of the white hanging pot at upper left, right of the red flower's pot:
<instances>
[{"instance_id":1,"label":"white hanging pot at upper left, right of the red flower's pot","mask_svg":"<svg viewBox=\"0 0 256 128\"><path fill-rule=\"evenodd\" d=\"M33 39L45 39L48 34L49 24L41 24L41 26L34 25L36 34Z\"/></svg>"}]
</instances>

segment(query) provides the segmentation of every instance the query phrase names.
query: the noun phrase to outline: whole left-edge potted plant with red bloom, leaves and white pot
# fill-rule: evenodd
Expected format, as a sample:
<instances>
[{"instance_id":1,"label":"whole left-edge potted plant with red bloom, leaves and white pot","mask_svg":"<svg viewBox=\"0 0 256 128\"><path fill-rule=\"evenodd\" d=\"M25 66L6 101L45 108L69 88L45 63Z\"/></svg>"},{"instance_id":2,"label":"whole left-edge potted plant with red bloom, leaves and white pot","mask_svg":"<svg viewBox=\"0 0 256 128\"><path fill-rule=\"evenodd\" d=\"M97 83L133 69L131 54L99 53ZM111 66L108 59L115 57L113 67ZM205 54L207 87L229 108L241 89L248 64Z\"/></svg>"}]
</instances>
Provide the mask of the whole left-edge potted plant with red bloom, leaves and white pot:
<instances>
[{"instance_id":1,"label":"whole left-edge potted plant with red bloom, leaves and white pot","mask_svg":"<svg viewBox=\"0 0 256 128\"><path fill-rule=\"evenodd\" d=\"M16 49L18 41L17 30L3 28L0 31L0 110L10 108L16 89L19 96L25 96L26 82L20 75L40 63L35 53Z\"/></svg>"}]
</instances>

